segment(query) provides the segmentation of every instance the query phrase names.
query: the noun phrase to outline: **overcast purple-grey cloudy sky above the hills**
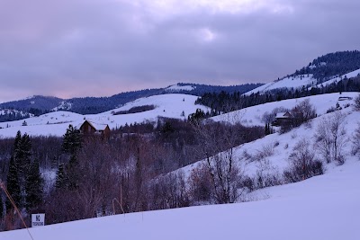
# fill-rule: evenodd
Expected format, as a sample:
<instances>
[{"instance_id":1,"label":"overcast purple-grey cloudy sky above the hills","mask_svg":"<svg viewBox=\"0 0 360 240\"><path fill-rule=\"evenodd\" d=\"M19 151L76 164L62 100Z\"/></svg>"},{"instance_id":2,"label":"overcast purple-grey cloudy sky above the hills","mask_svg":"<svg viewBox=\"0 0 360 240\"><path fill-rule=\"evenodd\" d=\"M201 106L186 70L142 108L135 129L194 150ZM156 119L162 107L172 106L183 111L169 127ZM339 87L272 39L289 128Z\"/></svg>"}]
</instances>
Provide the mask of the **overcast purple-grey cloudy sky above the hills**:
<instances>
[{"instance_id":1,"label":"overcast purple-grey cloudy sky above the hills","mask_svg":"<svg viewBox=\"0 0 360 240\"><path fill-rule=\"evenodd\" d=\"M359 0L0 0L0 102L266 83L360 49Z\"/></svg>"}]
</instances>

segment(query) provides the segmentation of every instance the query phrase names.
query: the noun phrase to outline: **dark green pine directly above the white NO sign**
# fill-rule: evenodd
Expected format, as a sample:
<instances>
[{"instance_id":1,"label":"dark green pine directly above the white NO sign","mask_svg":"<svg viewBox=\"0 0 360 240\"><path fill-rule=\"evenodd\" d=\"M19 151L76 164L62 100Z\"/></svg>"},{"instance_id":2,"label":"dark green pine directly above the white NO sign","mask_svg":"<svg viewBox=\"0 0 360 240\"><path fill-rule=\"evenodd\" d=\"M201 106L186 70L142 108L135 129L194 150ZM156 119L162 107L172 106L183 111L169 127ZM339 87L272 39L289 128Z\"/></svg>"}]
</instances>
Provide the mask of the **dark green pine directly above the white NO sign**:
<instances>
[{"instance_id":1,"label":"dark green pine directly above the white NO sign","mask_svg":"<svg viewBox=\"0 0 360 240\"><path fill-rule=\"evenodd\" d=\"M42 188L44 180L40 174L39 161L35 160L30 166L30 171L25 182L25 207L27 210L36 208L42 201Z\"/></svg>"}]
</instances>

